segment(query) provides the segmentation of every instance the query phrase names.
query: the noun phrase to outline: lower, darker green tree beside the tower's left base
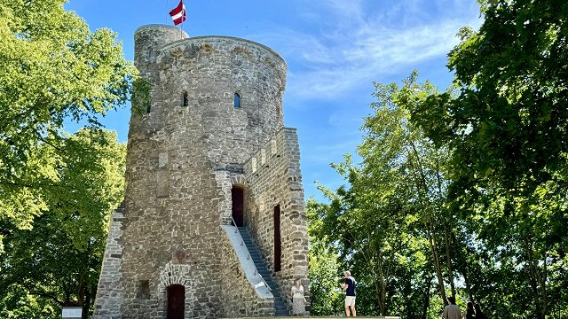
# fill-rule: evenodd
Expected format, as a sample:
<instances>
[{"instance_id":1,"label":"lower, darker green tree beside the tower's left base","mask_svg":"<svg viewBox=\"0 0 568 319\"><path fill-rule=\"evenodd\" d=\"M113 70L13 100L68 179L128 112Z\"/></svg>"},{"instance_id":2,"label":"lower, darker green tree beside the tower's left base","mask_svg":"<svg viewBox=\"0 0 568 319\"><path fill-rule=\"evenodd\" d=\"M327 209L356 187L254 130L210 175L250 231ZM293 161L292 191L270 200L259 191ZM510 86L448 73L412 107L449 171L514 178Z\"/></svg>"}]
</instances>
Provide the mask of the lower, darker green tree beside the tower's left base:
<instances>
[{"instance_id":1,"label":"lower, darker green tree beside the tower's left base","mask_svg":"<svg viewBox=\"0 0 568 319\"><path fill-rule=\"evenodd\" d=\"M0 317L57 318L60 307L92 311L111 211L122 201L125 146L114 132L84 128L42 144L59 182L42 191L47 209L33 228L0 222ZM56 150L57 152L55 152ZM34 306L34 307L32 307Z\"/></svg>"}]
</instances>

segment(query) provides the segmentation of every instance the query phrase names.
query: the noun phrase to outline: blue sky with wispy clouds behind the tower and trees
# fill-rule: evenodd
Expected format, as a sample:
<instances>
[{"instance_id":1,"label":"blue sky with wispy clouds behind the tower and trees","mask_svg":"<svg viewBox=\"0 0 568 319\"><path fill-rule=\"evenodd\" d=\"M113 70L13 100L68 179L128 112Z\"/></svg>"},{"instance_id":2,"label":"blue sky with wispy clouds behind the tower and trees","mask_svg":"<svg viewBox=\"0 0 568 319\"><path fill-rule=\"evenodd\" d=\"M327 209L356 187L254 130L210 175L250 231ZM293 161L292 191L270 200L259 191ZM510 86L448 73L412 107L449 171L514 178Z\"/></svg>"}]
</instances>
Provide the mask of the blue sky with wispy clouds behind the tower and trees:
<instances>
[{"instance_id":1,"label":"blue sky with wispy clouds behind the tower and trees","mask_svg":"<svg viewBox=\"0 0 568 319\"><path fill-rule=\"evenodd\" d=\"M177 0L69 0L67 10L91 31L108 27L133 60L134 31L173 25ZM297 128L305 198L324 200L316 181L335 190L343 178L329 166L354 154L371 114L373 82L419 81L446 89L447 53L461 27L481 24L476 0L187 0L189 36L227 35L262 43L288 65L284 125ZM106 128L127 141L130 105L107 114ZM69 124L69 126L72 126ZM356 158L357 159L357 158Z\"/></svg>"}]
</instances>

